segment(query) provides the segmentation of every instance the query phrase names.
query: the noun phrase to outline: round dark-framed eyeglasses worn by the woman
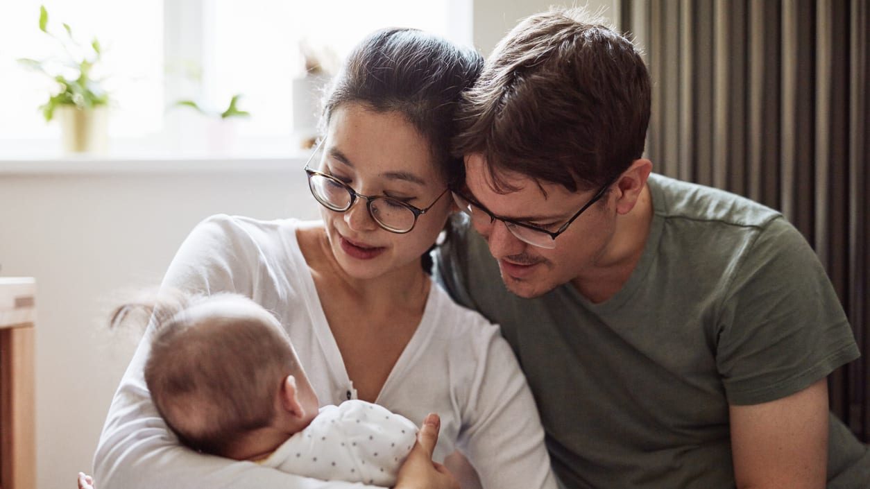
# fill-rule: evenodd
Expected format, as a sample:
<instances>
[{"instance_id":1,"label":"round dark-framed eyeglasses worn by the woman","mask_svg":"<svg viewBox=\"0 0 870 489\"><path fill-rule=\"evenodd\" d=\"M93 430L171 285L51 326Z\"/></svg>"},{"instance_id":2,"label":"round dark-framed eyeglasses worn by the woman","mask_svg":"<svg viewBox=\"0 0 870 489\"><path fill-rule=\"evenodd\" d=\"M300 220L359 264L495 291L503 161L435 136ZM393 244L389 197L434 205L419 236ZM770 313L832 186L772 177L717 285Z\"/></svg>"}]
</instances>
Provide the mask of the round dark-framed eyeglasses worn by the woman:
<instances>
[{"instance_id":1,"label":"round dark-framed eyeglasses worn by the woman","mask_svg":"<svg viewBox=\"0 0 870 489\"><path fill-rule=\"evenodd\" d=\"M424 209L391 198L385 195L368 196L353 190L353 188L342 182L338 178L313 170L309 166L312 160L321 153L320 147L323 141L319 142L315 147L311 157L305 162L305 173L308 174L308 188L311 189L311 195L325 208L334 212L346 212L353 207L357 198L365 199L365 208L369 211L371 219L386 231L395 232L397 234L405 234L414 229L417 224L417 219L432 209L432 206L438 203L449 189L445 189L438 198L429 204Z\"/></svg>"}]
</instances>

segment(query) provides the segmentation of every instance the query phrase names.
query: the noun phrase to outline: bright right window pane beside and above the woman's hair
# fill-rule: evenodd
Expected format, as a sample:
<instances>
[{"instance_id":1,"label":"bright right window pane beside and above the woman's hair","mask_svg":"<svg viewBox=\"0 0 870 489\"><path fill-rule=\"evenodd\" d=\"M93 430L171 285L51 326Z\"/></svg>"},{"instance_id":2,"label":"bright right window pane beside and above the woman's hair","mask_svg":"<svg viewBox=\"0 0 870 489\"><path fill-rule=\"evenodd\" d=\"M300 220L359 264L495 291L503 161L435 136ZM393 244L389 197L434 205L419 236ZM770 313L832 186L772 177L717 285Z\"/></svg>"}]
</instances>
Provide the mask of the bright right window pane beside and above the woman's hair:
<instances>
[{"instance_id":1,"label":"bright right window pane beside and above the woman's hair","mask_svg":"<svg viewBox=\"0 0 870 489\"><path fill-rule=\"evenodd\" d=\"M251 119L243 135L288 136L293 78L304 74L301 41L331 50L338 60L371 30L416 27L447 34L446 2L406 0L218 0L213 31L211 93L224 104L244 93Z\"/></svg>"}]
</instances>

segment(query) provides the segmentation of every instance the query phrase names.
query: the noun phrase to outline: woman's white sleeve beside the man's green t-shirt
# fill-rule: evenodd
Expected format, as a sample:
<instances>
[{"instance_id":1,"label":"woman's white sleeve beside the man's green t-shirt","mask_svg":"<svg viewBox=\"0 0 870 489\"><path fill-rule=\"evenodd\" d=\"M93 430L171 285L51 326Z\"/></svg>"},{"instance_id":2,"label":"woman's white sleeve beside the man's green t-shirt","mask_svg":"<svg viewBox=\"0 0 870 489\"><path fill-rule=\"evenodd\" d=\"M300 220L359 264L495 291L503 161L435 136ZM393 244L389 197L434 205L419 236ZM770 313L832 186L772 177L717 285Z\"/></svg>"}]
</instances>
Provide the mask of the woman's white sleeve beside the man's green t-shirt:
<instances>
[{"instance_id":1,"label":"woman's white sleeve beside the man's green t-shirt","mask_svg":"<svg viewBox=\"0 0 870 489\"><path fill-rule=\"evenodd\" d=\"M484 489L556 487L544 445L544 428L532 392L511 348L498 328L477 314L481 332L473 354L476 365L467 388L458 446L477 470Z\"/></svg>"}]
</instances>

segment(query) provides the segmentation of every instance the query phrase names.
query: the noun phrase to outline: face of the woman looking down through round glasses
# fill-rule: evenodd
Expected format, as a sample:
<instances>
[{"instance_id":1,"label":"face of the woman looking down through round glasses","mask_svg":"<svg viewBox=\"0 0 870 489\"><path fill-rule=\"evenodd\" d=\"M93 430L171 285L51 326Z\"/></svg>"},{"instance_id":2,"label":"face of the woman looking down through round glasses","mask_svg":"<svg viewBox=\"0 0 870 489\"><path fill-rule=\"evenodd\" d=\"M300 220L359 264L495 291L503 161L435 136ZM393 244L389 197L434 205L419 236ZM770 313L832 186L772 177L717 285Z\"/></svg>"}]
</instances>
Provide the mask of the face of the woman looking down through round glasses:
<instances>
[{"instance_id":1,"label":"face of the woman looking down through round glasses","mask_svg":"<svg viewBox=\"0 0 870 489\"><path fill-rule=\"evenodd\" d=\"M449 194L442 195L446 182L425 137L398 112L342 104L332 112L322 150L311 168L361 195L396 198L418 209L435 202L405 234L382 229L371 218L365 198L345 212L322 207L326 236L342 269L354 278L376 278L419 267L420 256L435 242L452 207Z\"/></svg>"}]
</instances>

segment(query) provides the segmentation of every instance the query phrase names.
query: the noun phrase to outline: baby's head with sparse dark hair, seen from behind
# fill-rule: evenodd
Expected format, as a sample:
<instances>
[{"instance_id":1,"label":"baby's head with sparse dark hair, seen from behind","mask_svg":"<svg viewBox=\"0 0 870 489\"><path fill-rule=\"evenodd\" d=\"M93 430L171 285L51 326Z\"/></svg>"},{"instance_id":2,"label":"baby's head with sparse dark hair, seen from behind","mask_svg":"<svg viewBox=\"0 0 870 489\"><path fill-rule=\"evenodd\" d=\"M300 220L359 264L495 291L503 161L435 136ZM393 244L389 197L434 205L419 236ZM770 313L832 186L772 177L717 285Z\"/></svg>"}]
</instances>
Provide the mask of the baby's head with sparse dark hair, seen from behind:
<instances>
[{"instance_id":1,"label":"baby's head with sparse dark hair, seen from behind","mask_svg":"<svg viewBox=\"0 0 870 489\"><path fill-rule=\"evenodd\" d=\"M184 298L157 305L151 320L145 383L185 445L248 459L274 450L317 414L290 339L251 299Z\"/></svg>"}]
</instances>

